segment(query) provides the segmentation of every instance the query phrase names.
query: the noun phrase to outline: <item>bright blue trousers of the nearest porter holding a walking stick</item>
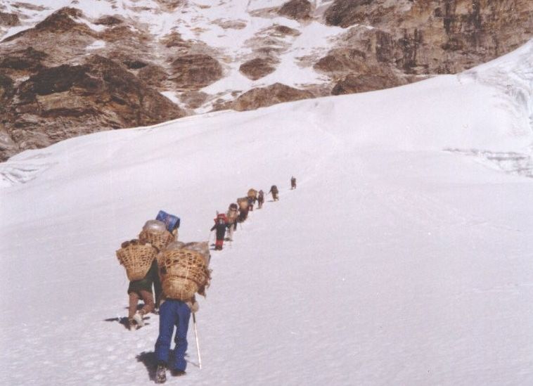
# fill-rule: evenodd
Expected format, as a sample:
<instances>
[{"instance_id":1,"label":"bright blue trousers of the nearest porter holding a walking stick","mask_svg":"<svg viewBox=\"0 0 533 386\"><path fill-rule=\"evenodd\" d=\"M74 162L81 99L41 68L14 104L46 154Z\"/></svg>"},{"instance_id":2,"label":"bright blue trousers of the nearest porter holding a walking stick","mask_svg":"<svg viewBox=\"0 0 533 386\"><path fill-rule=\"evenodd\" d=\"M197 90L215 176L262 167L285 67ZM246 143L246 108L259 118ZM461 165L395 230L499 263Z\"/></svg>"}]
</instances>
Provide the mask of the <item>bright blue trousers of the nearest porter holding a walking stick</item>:
<instances>
[{"instance_id":1,"label":"bright blue trousers of the nearest porter holding a walking stick","mask_svg":"<svg viewBox=\"0 0 533 386\"><path fill-rule=\"evenodd\" d=\"M158 362L167 364L171 370L185 371L187 362L185 352L187 351L187 330L188 321L191 319L191 309L187 304L179 300L165 300L159 308L159 336L155 342L155 357ZM170 344L172 343L172 333L176 326L174 342L174 361L169 364Z\"/></svg>"}]
</instances>

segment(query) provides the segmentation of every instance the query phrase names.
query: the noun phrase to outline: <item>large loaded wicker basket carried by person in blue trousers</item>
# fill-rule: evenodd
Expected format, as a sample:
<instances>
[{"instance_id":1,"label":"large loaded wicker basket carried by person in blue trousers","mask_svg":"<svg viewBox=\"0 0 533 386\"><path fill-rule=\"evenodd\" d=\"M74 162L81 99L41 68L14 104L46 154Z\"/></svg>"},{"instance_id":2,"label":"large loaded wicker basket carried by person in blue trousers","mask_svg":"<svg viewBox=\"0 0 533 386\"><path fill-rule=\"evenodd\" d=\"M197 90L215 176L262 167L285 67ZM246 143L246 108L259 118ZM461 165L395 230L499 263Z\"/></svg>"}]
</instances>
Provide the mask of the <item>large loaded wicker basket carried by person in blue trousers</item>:
<instances>
[{"instance_id":1,"label":"large loaded wicker basket carried by person in blue trousers","mask_svg":"<svg viewBox=\"0 0 533 386\"><path fill-rule=\"evenodd\" d=\"M163 295L184 302L196 292L205 296L211 281L209 262L207 243L188 243L181 249L164 250L158 257Z\"/></svg>"}]
</instances>

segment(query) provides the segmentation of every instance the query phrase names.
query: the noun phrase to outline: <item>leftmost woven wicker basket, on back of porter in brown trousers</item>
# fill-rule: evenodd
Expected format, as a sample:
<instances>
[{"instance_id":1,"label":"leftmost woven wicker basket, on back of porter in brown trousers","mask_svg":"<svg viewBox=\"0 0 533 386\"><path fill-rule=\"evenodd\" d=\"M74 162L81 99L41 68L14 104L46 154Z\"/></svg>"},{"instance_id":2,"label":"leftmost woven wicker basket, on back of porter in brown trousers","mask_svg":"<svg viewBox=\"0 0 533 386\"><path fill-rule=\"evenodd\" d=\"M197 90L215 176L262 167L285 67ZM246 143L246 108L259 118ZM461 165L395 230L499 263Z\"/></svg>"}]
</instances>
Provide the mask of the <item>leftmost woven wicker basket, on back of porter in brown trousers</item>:
<instances>
[{"instance_id":1,"label":"leftmost woven wicker basket, on back of porter in brown trousers","mask_svg":"<svg viewBox=\"0 0 533 386\"><path fill-rule=\"evenodd\" d=\"M146 276L158 250L150 243L130 240L122 243L117 250L117 259L126 269L129 281L141 280Z\"/></svg>"}]
</instances>

